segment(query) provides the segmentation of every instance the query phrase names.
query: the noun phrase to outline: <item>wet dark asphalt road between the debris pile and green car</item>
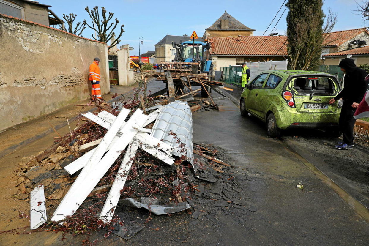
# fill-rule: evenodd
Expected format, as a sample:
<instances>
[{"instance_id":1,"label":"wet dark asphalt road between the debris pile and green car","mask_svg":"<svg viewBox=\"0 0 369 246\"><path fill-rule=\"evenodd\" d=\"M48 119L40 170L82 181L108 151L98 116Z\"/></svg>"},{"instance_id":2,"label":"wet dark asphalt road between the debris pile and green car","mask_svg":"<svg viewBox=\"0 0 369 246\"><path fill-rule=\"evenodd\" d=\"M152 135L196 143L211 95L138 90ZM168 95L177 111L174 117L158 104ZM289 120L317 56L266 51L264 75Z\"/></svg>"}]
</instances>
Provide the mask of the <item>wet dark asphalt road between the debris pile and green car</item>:
<instances>
[{"instance_id":1,"label":"wet dark asphalt road between the debris pile and green car","mask_svg":"<svg viewBox=\"0 0 369 246\"><path fill-rule=\"evenodd\" d=\"M186 212L152 215L151 226L132 239L112 235L99 245L367 245L369 225L344 200L281 141L266 136L260 121L241 117L228 99L217 103L219 111L193 113L193 142L224 150L223 160L237 169L234 176L242 196L257 211L231 206L215 214L204 210L196 225L190 225L194 219ZM299 182L303 191L296 187ZM90 240L101 239L103 233ZM61 242L61 234L57 235L38 233L39 240L31 242L23 235L17 241L43 245L48 239L46 245L79 245L85 239L68 236Z\"/></svg>"}]
</instances>

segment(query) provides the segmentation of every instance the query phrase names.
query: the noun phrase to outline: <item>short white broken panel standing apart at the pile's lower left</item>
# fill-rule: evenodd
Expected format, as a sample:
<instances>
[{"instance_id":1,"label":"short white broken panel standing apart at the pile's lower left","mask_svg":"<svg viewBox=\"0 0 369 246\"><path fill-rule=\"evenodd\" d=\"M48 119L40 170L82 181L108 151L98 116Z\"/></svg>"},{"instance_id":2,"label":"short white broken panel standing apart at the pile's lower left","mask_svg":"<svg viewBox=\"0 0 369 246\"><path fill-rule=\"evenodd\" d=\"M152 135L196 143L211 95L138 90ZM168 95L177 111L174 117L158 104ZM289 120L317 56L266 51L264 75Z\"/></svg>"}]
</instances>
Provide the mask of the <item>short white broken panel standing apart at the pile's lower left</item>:
<instances>
[{"instance_id":1,"label":"short white broken panel standing apart at the pile's lower left","mask_svg":"<svg viewBox=\"0 0 369 246\"><path fill-rule=\"evenodd\" d=\"M44 186L37 186L31 191L31 230L37 229L47 220Z\"/></svg>"}]
</instances>

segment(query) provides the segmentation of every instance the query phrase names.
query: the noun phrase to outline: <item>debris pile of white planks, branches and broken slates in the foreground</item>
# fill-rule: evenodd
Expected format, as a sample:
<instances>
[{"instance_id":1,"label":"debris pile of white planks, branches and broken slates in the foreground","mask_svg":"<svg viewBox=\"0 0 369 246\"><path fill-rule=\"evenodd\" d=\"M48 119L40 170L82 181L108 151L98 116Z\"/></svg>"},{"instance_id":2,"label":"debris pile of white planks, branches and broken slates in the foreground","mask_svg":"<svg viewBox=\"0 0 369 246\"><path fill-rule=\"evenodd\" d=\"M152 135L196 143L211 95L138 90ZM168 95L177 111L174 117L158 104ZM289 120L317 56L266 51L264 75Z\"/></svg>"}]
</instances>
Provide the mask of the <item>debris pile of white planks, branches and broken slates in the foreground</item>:
<instances>
[{"instance_id":1,"label":"debris pile of white planks, branches and broken slates in the foreground","mask_svg":"<svg viewBox=\"0 0 369 246\"><path fill-rule=\"evenodd\" d=\"M42 226L66 235L104 228L108 235L129 239L147 226L151 213L186 210L195 218L199 204L248 206L234 193L237 178L230 175L230 164L217 158L218 151L193 147L186 102L134 112L95 103L99 113L82 114L85 123L18 165L17 197L31 194L31 229ZM131 224L127 207L150 213L141 224Z\"/></svg>"}]
</instances>

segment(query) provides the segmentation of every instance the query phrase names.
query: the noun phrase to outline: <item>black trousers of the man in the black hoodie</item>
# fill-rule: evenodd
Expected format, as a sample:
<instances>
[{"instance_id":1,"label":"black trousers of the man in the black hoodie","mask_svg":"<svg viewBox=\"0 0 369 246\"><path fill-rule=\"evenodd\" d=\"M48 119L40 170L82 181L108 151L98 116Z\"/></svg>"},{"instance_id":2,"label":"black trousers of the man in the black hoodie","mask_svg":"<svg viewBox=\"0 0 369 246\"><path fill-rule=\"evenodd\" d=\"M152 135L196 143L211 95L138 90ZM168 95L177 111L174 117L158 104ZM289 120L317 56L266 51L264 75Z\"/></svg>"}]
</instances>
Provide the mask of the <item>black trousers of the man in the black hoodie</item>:
<instances>
[{"instance_id":1,"label":"black trousers of the man in the black hoodie","mask_svg":"<svg viewBox=\"0 0 369 246\"><path fill-rule=\"evenodd\" d=\"M351 107L351 105L352 103L344 102L339 115L339 129L344 135L343 142L347 145L354 144L354 125L356 121L354 114L356 108Z\"/></svg>"}]
</instances>

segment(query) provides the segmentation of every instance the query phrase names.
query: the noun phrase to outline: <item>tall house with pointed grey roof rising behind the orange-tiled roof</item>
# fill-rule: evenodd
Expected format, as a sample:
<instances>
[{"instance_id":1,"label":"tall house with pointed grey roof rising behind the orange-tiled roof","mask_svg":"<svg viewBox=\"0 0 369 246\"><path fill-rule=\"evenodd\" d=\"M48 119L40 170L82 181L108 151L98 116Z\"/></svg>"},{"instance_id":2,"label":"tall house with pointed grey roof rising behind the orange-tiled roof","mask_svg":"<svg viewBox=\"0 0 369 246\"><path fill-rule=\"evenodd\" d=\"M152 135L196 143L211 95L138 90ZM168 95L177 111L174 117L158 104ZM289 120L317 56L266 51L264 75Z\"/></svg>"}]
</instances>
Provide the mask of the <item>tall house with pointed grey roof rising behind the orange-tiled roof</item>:
<instances>
[{"instance_id":1,"label":"tall house with pointed grey roof rising behind the orange-tiled roof","mask_svg":"<svg viewBox=\"0 0 369 246\"><path fill-rule=\"evenodd\" d=\"M226 10L213 25L205 29L203 39L210 37L237 37L238 35L252 36L254 31L255 29L246 27L232 15L228 14Z\"/></svg>"}]
</instances>

